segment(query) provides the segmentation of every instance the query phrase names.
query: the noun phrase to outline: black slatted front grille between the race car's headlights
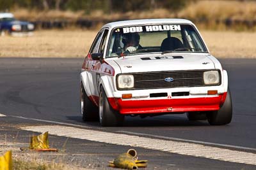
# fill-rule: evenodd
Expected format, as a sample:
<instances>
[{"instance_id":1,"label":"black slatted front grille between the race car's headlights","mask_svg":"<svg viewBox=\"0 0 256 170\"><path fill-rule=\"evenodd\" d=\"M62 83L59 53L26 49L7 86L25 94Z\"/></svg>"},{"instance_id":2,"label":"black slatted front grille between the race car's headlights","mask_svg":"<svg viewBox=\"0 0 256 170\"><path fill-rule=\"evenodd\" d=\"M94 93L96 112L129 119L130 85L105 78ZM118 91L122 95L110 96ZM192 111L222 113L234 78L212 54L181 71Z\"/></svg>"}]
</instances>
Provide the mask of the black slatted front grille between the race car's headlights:
<instances>
[{"instance_id":1,"label":"black slatted front grille between the race car's headlights","mask_svg":"<svg viewBox=\"0 0 256 170\"><path fill-rule=\"evenodd\" d=\"M204 72L209 70L193 71L159 71L150 73L133 73L134 90L139 89L164 89L173 87L200 87L204 84ZM220 70L218 70L220 73ZM165 78L173 78L166 82ZM220 78L221 80L221 78ZM221 83L221 82L220 82ZM220 85L219 83L219 85ZM125 89L124 89L125 90Z\"/></svg>"}]
</instances>

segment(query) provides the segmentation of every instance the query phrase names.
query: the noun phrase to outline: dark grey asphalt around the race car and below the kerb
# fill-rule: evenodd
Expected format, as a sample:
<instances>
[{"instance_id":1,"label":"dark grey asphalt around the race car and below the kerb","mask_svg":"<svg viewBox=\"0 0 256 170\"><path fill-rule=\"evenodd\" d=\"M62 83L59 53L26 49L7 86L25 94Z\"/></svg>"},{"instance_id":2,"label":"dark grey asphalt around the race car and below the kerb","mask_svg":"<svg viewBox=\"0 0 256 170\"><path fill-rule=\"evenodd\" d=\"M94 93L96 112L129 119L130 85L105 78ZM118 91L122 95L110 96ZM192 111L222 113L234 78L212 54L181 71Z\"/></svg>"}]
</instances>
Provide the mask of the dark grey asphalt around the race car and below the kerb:
<instances>
[{"instance_id":1,"label":"dark grey asphalt around the race car and below the kerb","mask_svg":"<svg viewBox=\"0 0 256 170\"><path fill-rule=\"evenodd\" d=\"M223 126L211 126L204 121L189 122L186 115L163 115L143 119L127 117L124 127L100 127L98 122L84 123L79 110L79 73L82 62L83 59L0 59L0 113L7 116L0 117L0 123L3 122L0 126L6 128L4 131L15 135L16 131L13 129L19 125L54 124L24 119L35 118L82 125L97 131L122 131L125 134L150 138L179 138L223 145L220 146L222 148L228 148L224 145L232 145L237 146L238 150L246 147L252 148L250 152L255 152L255 59L221 59L224 69L228 71L233 102L232 122ZM10 125L13 125L13 129L10 129ZM20 132L22 133L28 134L27 131ZM56 146L63 145L66 139L52 138ZM20 140L26 139L20 138ZM92 164L97 164L93 168L103 169L104 162L106 164L118 152L124 152L128 148L128 146L106 145L82 139L68 139L67 153L76 155L89 152ZM150 160L147 169L256 169L256 166L248 164L136 149L143 156L142 159ZM80 160L84 161L84 164L89 164L86 162L88 159L80 158Z\"/></svg>"}]
</instances>

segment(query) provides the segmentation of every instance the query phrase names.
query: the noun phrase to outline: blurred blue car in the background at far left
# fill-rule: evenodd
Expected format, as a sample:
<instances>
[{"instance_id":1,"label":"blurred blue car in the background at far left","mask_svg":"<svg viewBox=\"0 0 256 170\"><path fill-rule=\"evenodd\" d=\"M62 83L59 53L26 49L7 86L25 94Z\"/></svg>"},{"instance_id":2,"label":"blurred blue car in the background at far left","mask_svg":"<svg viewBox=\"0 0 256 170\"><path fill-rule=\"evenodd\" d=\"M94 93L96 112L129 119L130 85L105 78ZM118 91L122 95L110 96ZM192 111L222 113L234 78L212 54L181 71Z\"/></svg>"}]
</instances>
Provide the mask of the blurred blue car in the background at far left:
<instances>
[{"instance_id":1,"label":"blurred blue car in the background at far left","mask_svg":"<svg viewBox=\"0 0 256 170\"><path fill-rule=\"evenodd\" d=\"M30 22L16 20L12 13L0 13L0 34L12 36L31 36L35 25Z\"/></svg>"}]
</instances>

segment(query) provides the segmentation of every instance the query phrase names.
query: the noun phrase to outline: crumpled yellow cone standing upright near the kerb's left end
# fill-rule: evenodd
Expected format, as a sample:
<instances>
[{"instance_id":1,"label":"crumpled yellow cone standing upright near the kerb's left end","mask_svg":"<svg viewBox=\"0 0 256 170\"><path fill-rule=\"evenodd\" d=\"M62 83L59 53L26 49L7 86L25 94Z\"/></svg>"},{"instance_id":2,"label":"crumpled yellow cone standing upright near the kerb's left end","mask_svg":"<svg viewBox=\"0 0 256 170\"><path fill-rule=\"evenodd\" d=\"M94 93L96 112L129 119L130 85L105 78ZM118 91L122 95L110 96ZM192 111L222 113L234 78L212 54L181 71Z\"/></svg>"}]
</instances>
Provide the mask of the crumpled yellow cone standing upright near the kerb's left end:
<instances>
[{"instance_id":1,"label":"crumpled yellow cone standing upright near the kerb's left end","mask_svg":"<svg viewBox=\"0 0 256 170\"><path fill-rule=\"evenodd\" d=\"M30 138L29 149L49 149L48 132Z\"/></svg>"}]
</instances>

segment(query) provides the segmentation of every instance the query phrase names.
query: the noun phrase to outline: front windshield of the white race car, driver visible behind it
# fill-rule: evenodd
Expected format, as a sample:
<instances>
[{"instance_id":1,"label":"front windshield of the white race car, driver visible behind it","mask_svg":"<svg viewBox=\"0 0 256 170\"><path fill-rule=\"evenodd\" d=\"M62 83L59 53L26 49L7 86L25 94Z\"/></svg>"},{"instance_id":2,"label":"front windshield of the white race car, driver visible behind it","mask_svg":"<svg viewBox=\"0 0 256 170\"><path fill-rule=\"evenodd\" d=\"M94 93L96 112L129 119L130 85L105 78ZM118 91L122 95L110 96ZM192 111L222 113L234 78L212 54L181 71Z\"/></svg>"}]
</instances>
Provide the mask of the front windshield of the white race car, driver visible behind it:
<instances>
[{"instance_id":1,"label":"front windshield of the white race car, driver visible behind it","mask_svg":"<svg viewBox=\"0 0 256 170\"><path fill-rule=\"evenodd\" d=\"M143 53L207 52L192 25L160 24L113 29L107 57Z\"/></svg>"}]
</instances>

